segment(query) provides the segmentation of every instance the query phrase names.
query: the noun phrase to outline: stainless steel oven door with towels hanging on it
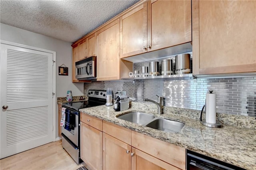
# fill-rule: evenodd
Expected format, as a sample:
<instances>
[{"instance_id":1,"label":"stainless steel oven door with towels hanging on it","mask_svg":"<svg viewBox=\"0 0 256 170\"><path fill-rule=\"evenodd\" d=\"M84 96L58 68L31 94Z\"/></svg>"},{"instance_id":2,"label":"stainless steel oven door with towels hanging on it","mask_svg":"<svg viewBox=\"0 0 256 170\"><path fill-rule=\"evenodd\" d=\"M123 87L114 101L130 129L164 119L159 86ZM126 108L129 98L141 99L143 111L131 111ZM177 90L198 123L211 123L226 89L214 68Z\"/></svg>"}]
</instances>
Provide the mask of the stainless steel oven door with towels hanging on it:
<instances>
[{"instance_id":1,"label":"stainless steel oven door with towels hanging on it","mask_svg":"<svg viewBox=\"0 0 256 170\"><path fill-rule=\"evenodd\" d=\"M63 107L63 106L62 106ZM66 107L64 107L66 108ZM65 127L61 127L61 132L69 139L71 140L76 146L78 146L78 138L79 138L79 112L78 111L73 111L71 109L66 108L65 110L65 114L66 114L66 119L70 117L72 117L72 119L74 119L74 129L70 128L65 128ZM70 115L67 115L70 114ZM67 120L65 120L67 122ZM65 122L65 124L66 124ZM72 122L72 121L71 121Z\"/></svg>"}]
</instances>

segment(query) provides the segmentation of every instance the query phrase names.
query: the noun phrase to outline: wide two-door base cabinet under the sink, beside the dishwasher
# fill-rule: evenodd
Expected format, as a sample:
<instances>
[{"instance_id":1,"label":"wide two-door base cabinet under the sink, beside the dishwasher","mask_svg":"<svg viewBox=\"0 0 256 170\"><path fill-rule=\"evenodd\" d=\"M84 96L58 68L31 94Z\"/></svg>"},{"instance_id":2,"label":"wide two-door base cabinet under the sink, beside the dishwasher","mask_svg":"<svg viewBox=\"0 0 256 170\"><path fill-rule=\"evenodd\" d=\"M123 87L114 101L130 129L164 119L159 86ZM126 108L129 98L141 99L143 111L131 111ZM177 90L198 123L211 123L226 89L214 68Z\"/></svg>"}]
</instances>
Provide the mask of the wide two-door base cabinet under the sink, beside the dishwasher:
<instances>
[{"instance_id":1,"label":"wide two-door base cabinet under the sink, beside the dishwasher","mask_svg":"<svg viewBox=\"0 0 256 170\"><path fill-rule=\"evenodd\" d=\"M185 148L106 121L102 130L104 170L185 170Z\"/></svg>"}]
</instances>

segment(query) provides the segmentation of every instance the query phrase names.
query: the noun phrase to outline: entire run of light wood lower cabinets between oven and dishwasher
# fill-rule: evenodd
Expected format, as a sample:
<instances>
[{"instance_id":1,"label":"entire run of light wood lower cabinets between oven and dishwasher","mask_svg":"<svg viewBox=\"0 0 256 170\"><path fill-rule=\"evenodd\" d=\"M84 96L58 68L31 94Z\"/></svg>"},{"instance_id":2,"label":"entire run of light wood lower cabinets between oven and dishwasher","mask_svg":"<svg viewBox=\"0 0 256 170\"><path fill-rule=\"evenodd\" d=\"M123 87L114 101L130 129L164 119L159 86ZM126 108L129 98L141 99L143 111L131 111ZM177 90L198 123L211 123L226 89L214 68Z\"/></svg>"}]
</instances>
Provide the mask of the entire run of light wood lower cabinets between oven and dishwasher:
<instances>
[{"instance_id":1,"label":"entire run of light wood lower cabinets between oven and dishwasher","mask_svg":"<svg viewBox=\"0 0 256 170\"><path fill-rule=\"evenodd\" d=\"M81 113L80 157L91 170L185 170L186 150Z\"/></svg>"}]
</instances>

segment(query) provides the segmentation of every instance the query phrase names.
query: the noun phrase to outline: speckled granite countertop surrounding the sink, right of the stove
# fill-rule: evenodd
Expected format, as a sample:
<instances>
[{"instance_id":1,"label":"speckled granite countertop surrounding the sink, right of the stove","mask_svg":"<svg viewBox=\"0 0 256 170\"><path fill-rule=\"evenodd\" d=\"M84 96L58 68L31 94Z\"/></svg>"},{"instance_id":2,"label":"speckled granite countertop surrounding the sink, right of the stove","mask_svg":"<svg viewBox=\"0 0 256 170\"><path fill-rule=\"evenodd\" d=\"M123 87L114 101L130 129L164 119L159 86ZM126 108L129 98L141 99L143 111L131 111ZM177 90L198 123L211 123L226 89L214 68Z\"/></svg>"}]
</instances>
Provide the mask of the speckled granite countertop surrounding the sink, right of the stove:
<instances>
[{"instance_id":1,"label":"speckled granite countertop surrounding the sink, right of the stove","mask_svg":"<svg viewBox=\"0 0 256 170\"><path fill-rule=\"evenodd\" d=\"M201 125L200 121L196 119L168 113L157 115L156 110L150 110L149 107L133 107L133 105L131 109L119 112L114 111L113 106L107 107L105 105L80 109L80 111L200 154L248 170L256 170L256 130L253 128L231 125L224 125L222 128L210 128ZM170 133L116 118L116 116L133 111L153 114L155 117L179 121L185 123L185 125L180 132Z\"/></svg>"}]
</instances>

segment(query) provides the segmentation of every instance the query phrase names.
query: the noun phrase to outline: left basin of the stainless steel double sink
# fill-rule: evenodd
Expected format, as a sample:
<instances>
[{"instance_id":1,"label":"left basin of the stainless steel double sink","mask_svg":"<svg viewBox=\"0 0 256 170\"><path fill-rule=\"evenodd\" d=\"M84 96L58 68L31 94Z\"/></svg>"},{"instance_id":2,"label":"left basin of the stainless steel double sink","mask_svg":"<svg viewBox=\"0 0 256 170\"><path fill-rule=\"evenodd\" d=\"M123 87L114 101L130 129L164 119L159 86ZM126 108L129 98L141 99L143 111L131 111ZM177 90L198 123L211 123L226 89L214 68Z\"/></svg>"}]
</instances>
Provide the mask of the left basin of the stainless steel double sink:
<instances>
[{"instance_id":1,"label":"left basin of the stainless steel double sink","mask_svg":"<svg viewBox=\"0 0 256 170\"><path fill-rule=\"evenodd\" d=\"M145 123L148 123L154 119L154 115L146 114L146 113L140 113L140 112L131 112L127 113L125 115L118 116L119 119L123 119L125 121L129 121L132 123L136 123L139 125L143 125Z\"/></svg>"}]
</instances>

